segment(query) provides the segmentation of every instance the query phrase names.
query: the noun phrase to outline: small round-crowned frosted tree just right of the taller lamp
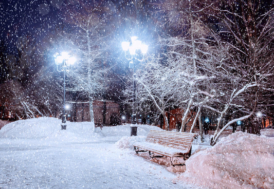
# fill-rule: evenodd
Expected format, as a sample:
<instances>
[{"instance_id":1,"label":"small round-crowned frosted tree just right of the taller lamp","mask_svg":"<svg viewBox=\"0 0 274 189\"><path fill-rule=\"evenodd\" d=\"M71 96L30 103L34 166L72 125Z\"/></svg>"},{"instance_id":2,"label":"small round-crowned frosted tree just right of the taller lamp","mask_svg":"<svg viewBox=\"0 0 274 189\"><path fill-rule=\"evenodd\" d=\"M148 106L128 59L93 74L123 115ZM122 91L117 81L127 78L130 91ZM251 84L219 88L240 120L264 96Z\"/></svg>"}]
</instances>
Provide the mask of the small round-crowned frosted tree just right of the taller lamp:
<instances>
[{"instance_id":1,"label":"small round-crowned frosted tree just right of the taller lamp","mask_svg":"<svg viewBox=\"0 0 274 189\"><path fill-rule=\"evenodd\" d=\"M157 58L146 62L135 76L139 106L149 100L165 119L167 129L169 121L166 111L175 104L176 99L174 77L177 77L174 70L162 65Z\"/></svg>"}]
</instances>

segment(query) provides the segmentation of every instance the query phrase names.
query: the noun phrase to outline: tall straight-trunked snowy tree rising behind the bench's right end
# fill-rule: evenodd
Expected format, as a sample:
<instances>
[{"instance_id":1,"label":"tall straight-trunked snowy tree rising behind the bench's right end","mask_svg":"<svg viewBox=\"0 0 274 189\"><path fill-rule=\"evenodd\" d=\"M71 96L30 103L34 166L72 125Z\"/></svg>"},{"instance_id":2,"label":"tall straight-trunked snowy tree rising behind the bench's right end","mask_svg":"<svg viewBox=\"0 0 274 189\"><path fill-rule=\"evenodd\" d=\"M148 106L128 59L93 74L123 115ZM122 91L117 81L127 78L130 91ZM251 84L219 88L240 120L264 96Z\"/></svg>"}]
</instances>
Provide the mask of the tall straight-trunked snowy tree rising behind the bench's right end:
<instances>
[{"instance_id":1,"label":"tall straight-trunked snowy tree rising behind the bench's right end","mask_svg":"<svg viewBox=\"0 0 274 189\"><path fill-rule=\"evenodd\" d=\"M202 15L214 2L166 1L160 8L166 13L167 27L173 31L160 43L166 46L169 62L180 62L182 80L187 81L188 94L182 93L181 108L184 109L180 131L186 129L188 115L195 106L201 106L208 97L212 98L214 89L209 87L216 77L215 63L223 59L224 53L217 53L224 48L216 41L217 36L207 25ZM212 45L214 44L214 45ZM223 50L222 50L223 51ZM207 85L207 87L205 87ZM205 99L207 97L207 99ZM196 120L198 114L196 115Z\"/></svg>"}]
</instances>

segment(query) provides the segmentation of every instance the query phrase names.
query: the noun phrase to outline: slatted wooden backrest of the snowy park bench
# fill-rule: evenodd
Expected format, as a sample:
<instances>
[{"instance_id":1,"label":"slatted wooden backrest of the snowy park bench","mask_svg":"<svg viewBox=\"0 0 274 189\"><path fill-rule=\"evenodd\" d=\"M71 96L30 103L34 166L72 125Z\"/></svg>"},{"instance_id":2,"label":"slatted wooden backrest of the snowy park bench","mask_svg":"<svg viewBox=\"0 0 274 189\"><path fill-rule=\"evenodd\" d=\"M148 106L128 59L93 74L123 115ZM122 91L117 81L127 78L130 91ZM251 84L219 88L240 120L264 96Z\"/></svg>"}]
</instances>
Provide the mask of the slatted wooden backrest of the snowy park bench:
<instances>
[{"instance_id":1,"label":"slatted wooden backrest of the snowy park bench","mask_svg":"<svg viewBox=\"0 0 274 189\"><path fill-rule=\"evenodd\" d=\"M166 130L150 130L145 141L190 150L192 141L197 134L181 133Z\"/></svg>"}]
</instances>

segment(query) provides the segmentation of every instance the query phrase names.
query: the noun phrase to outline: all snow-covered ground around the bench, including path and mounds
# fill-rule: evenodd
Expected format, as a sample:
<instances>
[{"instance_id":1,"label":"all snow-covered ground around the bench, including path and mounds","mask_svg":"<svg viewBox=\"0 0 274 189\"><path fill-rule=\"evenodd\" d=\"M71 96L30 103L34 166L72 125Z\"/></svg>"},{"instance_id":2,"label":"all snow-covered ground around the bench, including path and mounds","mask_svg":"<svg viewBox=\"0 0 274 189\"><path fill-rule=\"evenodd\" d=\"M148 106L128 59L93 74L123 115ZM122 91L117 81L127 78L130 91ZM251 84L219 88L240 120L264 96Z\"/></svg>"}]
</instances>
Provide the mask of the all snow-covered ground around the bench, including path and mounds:
<instances>
[{"instance_id":1,"label":"all snow-covered ground around the bench, including path and mounds","mask_svg":"<svg viewBox=\"0 0 274 189\"><path fill-rule=\"evenodd\" d=\"M194 140L186 166L136 155L150 125L96 128L89 122L37 118L0 130L0 188L274 188L274 129L238 132L215 146ZM188 184L187 184L188 183ZM194 185L196 184L196 185Z\"/></svg>"}]
</instances>

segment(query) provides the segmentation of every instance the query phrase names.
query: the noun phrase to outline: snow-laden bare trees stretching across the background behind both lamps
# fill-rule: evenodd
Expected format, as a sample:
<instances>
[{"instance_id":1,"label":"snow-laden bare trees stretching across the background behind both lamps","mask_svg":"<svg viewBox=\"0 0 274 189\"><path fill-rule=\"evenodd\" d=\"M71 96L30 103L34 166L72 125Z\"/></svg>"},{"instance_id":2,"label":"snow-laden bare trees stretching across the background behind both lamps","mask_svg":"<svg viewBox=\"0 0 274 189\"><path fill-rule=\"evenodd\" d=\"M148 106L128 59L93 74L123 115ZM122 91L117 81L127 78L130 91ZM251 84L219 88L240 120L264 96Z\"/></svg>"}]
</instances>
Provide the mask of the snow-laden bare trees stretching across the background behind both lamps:
<instances>
[{"instance_id":1,"label":"snow-laden bare trees stretching across the background behind both lamps","mask_svg":"<svg viewBox=\"0 0 274 189\"><path fill-rule=\"evenodd\" d=\"M256 112L273 116L273 1L79 1L61 10L64 22L43 42L19 40L15 56L2 46L1 103L8 98L19 118L59 114L62 80L45 54L64 46L80 58L68 90L90 112L98 98L129 107L134 78L140 111L184 109L180 131L193 110L197 121L218 115L212 145L236 121L256 127ZM135 75L120 47L133 34L150 45Z\"/></svg>"}]
</instances>

